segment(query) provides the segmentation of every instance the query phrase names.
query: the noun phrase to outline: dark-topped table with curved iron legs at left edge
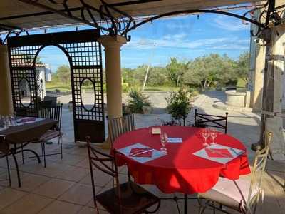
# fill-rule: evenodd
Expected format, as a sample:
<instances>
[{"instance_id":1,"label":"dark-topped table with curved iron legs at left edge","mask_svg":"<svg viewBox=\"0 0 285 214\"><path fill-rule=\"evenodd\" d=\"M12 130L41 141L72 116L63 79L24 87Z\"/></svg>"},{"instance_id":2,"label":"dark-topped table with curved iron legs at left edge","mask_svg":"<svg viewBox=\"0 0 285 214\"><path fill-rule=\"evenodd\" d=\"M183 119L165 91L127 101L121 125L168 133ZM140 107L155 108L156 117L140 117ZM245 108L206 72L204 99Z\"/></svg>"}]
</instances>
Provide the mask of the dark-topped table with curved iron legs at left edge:
<instances>
[{"instance_id":1,"label":"dark-topped table with curved iron legs at left edge","mask_svg":"<svg viewBox=\"0 0 285 214\"><path fill-rule=\"evenodd\" d=\"M5 153L7 156L13 156L18 175L19 187L21 186L21 180L19 176L19 165L15 154L21 151L29 151L38 158L38 163L41 163L41 160L35 151L31 149L23 149L23 147L28 145L30 141L40 138L44 133L46 133L46 131L57 126L57 123L57 121L50 119L35 118L35 121L22 123L19 126L9 126L9 128L0 130L0 151ZM17 146L17 144L21 144L21 146Z\"/></svg>"}]
</instances>

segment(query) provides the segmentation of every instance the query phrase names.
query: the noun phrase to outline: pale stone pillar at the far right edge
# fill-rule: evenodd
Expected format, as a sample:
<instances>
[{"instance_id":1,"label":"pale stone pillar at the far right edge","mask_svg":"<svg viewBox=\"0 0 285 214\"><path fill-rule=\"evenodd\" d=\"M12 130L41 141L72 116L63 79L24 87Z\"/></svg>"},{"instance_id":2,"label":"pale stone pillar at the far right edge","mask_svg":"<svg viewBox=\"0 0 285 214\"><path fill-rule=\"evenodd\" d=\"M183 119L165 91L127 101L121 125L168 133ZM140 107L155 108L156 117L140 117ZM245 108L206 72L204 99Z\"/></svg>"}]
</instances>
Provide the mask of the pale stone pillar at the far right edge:
<instances>
[{"instance_id":1,"label":"pale stone pillar at the far right edge","mask_svg":"<svg viewBox=\"0 0 285 214\"><path fill-rule=\"evenodd\" d=\"M271 155L275 160L285 160L285 142L282 111L284 76L285 26L272 26L264 30L266 39L266 61L262 97L261 133L259 143L252 148L263 148L266 131L273 133Z\"/></svg>"}]
</instances>

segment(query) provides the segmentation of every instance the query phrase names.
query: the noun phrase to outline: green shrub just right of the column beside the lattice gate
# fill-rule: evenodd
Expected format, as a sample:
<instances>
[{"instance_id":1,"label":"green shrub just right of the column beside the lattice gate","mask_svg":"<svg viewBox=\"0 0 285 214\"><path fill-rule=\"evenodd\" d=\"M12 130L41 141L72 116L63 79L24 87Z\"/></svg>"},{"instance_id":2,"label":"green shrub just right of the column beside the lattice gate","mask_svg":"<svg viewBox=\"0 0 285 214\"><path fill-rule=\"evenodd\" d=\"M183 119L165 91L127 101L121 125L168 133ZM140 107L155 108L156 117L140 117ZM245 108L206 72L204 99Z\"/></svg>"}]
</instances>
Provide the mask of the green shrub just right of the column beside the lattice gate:
<instances>
[{"instance_id":1,"label":"green shrub just right of the column beside the lattice gate","mask_svg":"<svg viewBox=\"0 0 285 214\"><path fill-rule=\"evenodd\" d=\"M149 98L140 91L130 90L129 96L128 109L131 113L143 113L142 106L151 106Z\"/></svg>"}]
</instances>

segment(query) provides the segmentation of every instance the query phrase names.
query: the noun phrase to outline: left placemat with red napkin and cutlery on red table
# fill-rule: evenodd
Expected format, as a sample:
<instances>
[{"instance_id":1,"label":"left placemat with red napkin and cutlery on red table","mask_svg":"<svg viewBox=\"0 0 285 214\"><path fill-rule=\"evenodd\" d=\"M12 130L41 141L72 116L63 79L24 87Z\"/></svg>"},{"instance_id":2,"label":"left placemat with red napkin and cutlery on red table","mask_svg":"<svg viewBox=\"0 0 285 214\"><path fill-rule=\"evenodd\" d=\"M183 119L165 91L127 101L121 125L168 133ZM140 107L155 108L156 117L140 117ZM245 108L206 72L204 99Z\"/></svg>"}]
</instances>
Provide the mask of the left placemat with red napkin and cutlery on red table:
<instances>
[{"instance_id":1,"label":"left placemat with red napkin and cutlery on red table","mask_svg":"<svg viewBox=\"0 0 285 214\"><path fill-rule=\"evenodd\" d=\"M166 155L166 153L145 146L142 143L135 143L125 148L120 148L118 152L140 163L146 163Z\"/></svg>"}]
</instances>

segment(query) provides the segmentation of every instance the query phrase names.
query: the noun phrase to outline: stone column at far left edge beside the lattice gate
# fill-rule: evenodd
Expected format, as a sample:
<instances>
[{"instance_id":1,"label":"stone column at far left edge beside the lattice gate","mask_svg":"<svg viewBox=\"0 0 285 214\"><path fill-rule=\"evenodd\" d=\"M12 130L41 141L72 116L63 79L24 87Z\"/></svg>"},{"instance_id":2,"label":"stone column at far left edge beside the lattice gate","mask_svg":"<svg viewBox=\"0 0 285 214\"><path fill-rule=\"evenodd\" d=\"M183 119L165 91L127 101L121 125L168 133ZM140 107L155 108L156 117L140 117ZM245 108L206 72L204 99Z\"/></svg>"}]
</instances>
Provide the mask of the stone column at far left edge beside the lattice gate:
<instances>
[{"instance_id":1,"label":"stone column at far left edge beside the lattice gate","mask_svg":"<svg viewBox=\"0 0 285 214\"><path fill-rule=\"evenodd\" d=\"M8 48L0 44L0 115L13 113Z\"/></svg>"}]
</instances>

